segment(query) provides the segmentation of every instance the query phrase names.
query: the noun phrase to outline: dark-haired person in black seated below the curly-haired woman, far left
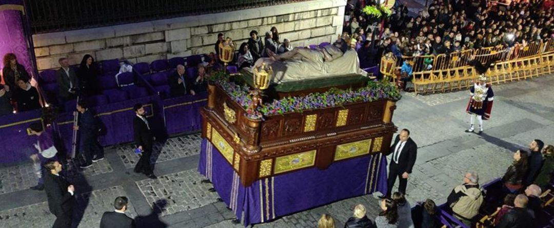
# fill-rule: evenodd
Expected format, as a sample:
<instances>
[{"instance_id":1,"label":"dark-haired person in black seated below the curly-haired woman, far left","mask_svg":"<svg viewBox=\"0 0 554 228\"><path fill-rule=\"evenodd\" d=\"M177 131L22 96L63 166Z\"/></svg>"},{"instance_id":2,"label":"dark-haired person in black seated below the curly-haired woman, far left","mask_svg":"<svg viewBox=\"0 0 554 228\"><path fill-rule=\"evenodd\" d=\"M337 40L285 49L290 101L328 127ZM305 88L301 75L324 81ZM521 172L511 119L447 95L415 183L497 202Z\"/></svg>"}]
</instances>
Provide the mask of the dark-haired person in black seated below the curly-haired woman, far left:
<instances>
[{"instance_id":1,"label":"dark-haired person in black seated below the curly-haired woman, far left","mask_svg":"<svg viewBox=\"0 0 554 228\"><path fill-rule=\"evenodd\" d=\"M27 79L17 79L18 88L13 91L12 100L17 103L18 112L40 108L37 88L34 88Z\"/></svg>"}]
</instances>

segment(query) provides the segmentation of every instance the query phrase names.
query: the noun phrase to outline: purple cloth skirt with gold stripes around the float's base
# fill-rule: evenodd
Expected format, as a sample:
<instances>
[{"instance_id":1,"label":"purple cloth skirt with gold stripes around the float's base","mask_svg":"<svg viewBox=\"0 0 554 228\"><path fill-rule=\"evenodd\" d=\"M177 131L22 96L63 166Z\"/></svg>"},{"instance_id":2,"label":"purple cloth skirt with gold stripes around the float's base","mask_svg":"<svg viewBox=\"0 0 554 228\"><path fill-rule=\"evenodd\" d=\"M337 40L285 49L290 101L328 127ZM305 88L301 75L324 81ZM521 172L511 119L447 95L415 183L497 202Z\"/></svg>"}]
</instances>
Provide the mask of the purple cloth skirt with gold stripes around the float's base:
<instances>
[{"instance_id":1,"label":"purple cloth skirt with gold stripes around the float's base","mask_svg":"<svg viewBox=\"0 0 554 228\"><path fill-rule=\"evenodd\" d=\"M244 225L278 217L354 196L385 192L386 158L382 154L337 161L329 168L307 168L255 181L244 187L240 178L207 139L202 140L198 171Z\"/></svg>"}]
</instances>

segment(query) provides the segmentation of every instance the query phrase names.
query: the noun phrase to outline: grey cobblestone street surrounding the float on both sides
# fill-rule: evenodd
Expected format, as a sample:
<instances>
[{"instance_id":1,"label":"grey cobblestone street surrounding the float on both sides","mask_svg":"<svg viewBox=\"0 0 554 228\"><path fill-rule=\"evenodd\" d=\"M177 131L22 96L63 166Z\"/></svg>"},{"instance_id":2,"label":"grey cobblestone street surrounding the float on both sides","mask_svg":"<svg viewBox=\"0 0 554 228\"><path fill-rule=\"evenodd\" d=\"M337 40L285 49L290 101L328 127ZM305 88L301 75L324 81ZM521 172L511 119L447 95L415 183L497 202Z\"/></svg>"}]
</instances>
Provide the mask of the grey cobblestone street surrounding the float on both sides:
<instances>
[{"instance_id":1,"label":"grey cobblestone street surrounding the float on both sides","mask_svg":"<svg viewBox=\"0 0 554 228\"><path fill-rule=\"evenodd\" d=\"M397 103L393 121L399 129L411 130L418 144L418 158L408 180L407 198L413 205L427 198L446 201L450 190L462 183L468 170L486 183L504 174L518 148L532 139L554 144L554 77L494 85L491 120L484 121L481 135L464 133L469 125L465 113L468 91L447 94L404 94ZM75 224L98 227L104 211L113 209L117 196L131 202L127 215L139 217L141 227L244 227L232 223L233 212L218 201L217 192L197 171L199 133L175 136L155 145L157 180L132 171L138 156L133 145L104 148L106 159L87 169L70 164L66 175L75 184ZM0 168L0 227L51 227L44 191L29 190L37 182L29 163ZM398 182L397 182L398 183ZM396 188L396 187L395 187ZM394 191L394 190L393 190ZM377 196L365 195L298 212L254 227L316 227L321 214L331 214L337 227L364 204L367 215L379 212Z\"/></svg>"}]
</instances>

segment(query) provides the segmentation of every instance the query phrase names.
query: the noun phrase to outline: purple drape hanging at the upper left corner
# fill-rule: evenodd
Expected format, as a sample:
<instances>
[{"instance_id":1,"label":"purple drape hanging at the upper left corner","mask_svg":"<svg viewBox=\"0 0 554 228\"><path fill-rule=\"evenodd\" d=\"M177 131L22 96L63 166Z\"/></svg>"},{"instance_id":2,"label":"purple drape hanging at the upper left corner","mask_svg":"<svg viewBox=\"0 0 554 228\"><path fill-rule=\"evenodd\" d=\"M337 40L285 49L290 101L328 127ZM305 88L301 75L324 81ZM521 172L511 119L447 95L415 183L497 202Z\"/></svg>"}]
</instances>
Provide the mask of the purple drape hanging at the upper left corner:
<instances>
[{"instance_id":1,"label":"purple drape hanging at the upper left corner","mask_svg":"<svg viewBox=\"0 0 554 228\"><path fill-rule=\"evenodd\" d=\"M2 3L8 2L0 2L0 4ZM16 54L17 61L25 67L29 74L33 74L33 63L29 55L20 11L0 11L0 58L3 58L7 53ZM4 68L4 63L1 60L0 68Z\"/></svg>"}]
</instances>

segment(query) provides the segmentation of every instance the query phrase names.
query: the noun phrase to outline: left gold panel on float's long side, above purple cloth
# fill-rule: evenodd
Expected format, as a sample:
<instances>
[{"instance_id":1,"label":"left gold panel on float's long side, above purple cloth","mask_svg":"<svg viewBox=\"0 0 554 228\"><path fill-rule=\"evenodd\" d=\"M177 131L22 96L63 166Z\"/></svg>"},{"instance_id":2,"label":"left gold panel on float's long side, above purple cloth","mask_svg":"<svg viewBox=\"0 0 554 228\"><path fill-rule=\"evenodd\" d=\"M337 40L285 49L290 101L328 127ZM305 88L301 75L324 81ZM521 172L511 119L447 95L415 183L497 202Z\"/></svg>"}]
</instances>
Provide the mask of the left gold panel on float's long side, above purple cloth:
<instances>
[{"instance_id":1,"label":"left gold panel on float's long side, above purple cloth","mask_svg":"<svg viewBox=\"0 0 554 228\"><path fill-rule=\"evenodd\" d=\"M296 169L306 168L315 164L316 150L280 156L275 159L274 174L284 173Z\"/></svg>"}]
</instances>

